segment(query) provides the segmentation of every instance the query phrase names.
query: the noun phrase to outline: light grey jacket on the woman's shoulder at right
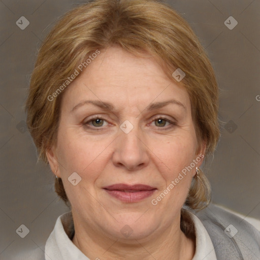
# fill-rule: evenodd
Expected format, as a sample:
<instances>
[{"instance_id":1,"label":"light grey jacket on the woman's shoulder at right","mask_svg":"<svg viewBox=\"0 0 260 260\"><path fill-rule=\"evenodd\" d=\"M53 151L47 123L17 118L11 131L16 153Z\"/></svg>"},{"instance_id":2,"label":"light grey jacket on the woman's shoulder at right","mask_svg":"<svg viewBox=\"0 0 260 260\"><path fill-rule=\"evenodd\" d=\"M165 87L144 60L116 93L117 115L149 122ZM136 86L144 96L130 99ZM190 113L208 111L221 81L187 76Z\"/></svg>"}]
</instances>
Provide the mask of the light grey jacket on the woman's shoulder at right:
<instances>
[{"instance_id":1,"label":"light grey jacket on the woman's shoulder at right","mask_svg":"<svg viewBox=\"0 0 260 260\"><path fill-rule=\"evenodd\" d=\"M216 205L196 212L214 245L217 259L259 259L260 232L241 217Z\"/></svg>"}]
</instances>

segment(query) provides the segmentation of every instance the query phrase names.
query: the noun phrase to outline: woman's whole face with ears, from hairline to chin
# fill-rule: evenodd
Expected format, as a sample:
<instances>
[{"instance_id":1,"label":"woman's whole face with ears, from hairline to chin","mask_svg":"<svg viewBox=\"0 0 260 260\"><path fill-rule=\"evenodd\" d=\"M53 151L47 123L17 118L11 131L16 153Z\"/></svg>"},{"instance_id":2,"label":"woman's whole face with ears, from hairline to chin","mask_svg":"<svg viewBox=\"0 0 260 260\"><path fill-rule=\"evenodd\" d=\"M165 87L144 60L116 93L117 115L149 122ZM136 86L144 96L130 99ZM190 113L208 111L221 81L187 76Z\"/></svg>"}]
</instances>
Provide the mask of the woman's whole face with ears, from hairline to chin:
<instances>
[{"instance_id":1,"label":"woman's whole face with ears, from hairline to chin","mask_svg":"<svg viewBox=\"0 0 260 260\"><path fill-rule=\"evenodd\" d=\"M203 157L184 87L150 56L111 47L63 93L60 113L47 156L74 221L113 239L179 228Z\"/></svg>"}]
</instances>

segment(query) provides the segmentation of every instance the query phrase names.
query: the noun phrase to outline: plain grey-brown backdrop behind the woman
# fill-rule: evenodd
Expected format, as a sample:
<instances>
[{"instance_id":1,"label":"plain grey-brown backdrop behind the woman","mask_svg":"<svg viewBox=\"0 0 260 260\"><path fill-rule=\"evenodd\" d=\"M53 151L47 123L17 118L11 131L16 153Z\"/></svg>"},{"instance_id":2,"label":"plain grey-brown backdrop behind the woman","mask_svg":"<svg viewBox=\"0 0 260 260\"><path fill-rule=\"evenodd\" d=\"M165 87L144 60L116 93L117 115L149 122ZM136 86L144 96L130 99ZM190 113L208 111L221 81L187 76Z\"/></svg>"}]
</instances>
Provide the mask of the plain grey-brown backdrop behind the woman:
<instances>
[{"instance_id":1,"label":"plain grey-brown backdrop behind the woman","mask_svg":"<svg viewBox=\"0 0 260 260\"><path fill-rule=\"evenodd\" d=\"M0 259L40 247L68 208L54 192L49 167L37 164L23 105L37 49L64 12L83 1L0 1ZM260 1L168 1L190 23L215 69L220 94L221 141L210 166L213 202L260 218L259 111ZM30 24L21 30L16 21ZM230 30L224 21L233 16ZM260 97L259 97L260 100ZM24 224L25 238L16 230ZM18 257L18 256L17 256Z\"/></svg>"}]
</instances>

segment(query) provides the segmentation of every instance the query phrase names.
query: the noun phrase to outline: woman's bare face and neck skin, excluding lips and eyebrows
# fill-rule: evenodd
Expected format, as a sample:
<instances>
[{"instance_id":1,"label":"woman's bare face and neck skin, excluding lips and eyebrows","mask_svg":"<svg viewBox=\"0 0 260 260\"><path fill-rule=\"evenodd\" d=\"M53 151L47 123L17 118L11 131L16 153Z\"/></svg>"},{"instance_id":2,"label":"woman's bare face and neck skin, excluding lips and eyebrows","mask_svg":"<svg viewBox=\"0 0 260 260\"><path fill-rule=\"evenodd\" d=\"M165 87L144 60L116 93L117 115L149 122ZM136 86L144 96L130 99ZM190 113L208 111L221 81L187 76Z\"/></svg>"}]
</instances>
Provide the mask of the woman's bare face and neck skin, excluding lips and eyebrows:
<instances>
[{"instance_id":1,"label":"woman's bare face and neck skin, excluding lips and eyebrows","mask_svg":"<svg viewBox=\"0 0 260 260\"><path fill-rule=\"evenodd\" d=\"M151 103L173 99L183 107L168 104L147 111ZM85 100L109 102L114 110L84 104L71 112ZM46 154L72 205L73 243L90 259L192 259L195 242L180 229L180 211L196 168L156 206L151 204L205 151L196 153L184 87L167 78L151 55L140 58L110 47L66 89L60 112L57 146ZM120 129L125 120L134 126L128 134ZM68 181L73 172L82 178L76 186ZM140 202L125 203L103 189L116 183L157 190ZM120 232L125 225L133 231L127 238Z\"/></svg>"}]
</instances>

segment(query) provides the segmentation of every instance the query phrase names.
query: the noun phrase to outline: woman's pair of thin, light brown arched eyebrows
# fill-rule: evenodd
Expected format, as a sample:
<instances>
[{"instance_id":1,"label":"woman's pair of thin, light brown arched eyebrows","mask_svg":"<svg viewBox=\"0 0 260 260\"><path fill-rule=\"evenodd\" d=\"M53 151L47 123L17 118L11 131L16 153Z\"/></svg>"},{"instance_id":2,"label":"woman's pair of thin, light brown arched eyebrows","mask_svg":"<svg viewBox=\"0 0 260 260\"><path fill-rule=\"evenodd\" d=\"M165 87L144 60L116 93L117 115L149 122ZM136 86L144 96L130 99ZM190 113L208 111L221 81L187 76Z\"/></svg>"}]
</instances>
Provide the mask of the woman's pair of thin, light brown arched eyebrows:
<instances>
[{"instance_id":1,"label":"woman's pair of thin, light brown arched eyebrows","mask_svg":"<svg viewBox=\"0 0 260 260\"><path fill-rule=\"evenodd\" d=\"M94 106L100 107L104 110L108 110L108 111L114 111L115 108L111 103L108 102L103 102L103 101L99 101L99 100L85 100L80 102L78 105L76 105L71 112L75 111L76 109L78 109L79 107L82 107L85 104L93 104ZM177 100L168 100L168 101L163 101L163 102L155 102L150 104L145 110L147 111L151 111L154 109L158 109L158 108L163 108L169 104L175 104L178 105L179 107L183 108L184 110L186 110L186 107L179 101Z\"/></svg>"}]
</instances>

